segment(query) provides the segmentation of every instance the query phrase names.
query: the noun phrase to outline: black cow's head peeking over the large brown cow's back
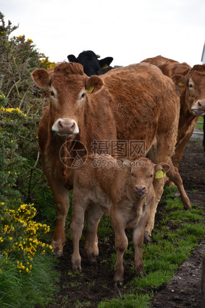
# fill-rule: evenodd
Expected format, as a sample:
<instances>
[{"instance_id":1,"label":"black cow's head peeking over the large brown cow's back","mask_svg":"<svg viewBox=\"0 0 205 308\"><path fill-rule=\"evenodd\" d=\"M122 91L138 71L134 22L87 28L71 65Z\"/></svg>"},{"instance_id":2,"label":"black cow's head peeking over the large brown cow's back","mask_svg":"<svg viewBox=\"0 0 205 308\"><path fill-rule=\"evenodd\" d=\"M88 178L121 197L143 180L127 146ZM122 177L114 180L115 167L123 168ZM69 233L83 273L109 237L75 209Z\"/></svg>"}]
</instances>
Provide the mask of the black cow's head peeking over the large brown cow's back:
<instances>
[{"instance_id":1,"label":"black cow's head peeking over the large brown cow's back","mask_svg":"<svg viewBox=\"0 0 205 308\"><path fill-rule=\"evenodd\" d=\"M68 55L67 58L69 62L81 64L83 66L84 73L89 77L92 75L103 75L113 69L110 66L113 61L112 57L106 57L98 60L100 56L96 55L92 50L81 52L77 58L74 55Z\"/></svg>"}]
</instances>

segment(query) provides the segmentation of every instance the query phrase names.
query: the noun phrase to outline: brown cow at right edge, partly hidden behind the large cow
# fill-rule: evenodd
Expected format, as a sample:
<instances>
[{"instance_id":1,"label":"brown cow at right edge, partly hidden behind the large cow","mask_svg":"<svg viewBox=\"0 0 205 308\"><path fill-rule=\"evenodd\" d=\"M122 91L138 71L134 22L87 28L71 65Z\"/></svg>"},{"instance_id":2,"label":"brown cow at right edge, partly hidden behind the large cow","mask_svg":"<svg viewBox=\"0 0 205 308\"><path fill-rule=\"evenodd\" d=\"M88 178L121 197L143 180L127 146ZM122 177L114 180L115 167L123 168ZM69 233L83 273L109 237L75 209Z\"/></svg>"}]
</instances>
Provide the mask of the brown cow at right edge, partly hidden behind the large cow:
<instances>
[{"instance_id":1,"label":"brown cow at right edge, partly hidden behind the large cow","mask_svg":"<svg viewBox=\"0 0 205 308\"><path fill-rule=\"evenodd\" d=\"M192 136L199 116L205 114L205 65L191 68L187 63L157 56L142 62L156 65L164 75L171 77L179 85L181 110L174 166L179 167L184 147Z\"/></svg>"}]
</instances>

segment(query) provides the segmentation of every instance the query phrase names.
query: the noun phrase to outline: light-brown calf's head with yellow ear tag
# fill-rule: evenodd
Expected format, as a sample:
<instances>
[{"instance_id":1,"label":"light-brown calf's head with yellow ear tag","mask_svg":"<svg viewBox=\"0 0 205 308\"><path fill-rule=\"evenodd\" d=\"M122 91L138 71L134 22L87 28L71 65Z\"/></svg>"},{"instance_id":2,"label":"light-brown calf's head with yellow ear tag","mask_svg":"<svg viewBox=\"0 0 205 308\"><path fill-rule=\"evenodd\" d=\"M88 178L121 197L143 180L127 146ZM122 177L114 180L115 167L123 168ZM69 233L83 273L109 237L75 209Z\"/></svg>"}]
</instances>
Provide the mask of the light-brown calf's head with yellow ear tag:
<instances>
[{"instance_id":1,"label":"light-brown calf's head with yellow ear tag","mask_svg":"<svg viewBox=\"0 0 205 308\"><path fill-rule=\"evenodd\" d=\"M140 197L146 196L155 177L164 177L170 169L167 163L154 164L150 159L144 157L131 162L127 161L124 165L129 168L132 189Z\"/></svg>"}]
</instances>

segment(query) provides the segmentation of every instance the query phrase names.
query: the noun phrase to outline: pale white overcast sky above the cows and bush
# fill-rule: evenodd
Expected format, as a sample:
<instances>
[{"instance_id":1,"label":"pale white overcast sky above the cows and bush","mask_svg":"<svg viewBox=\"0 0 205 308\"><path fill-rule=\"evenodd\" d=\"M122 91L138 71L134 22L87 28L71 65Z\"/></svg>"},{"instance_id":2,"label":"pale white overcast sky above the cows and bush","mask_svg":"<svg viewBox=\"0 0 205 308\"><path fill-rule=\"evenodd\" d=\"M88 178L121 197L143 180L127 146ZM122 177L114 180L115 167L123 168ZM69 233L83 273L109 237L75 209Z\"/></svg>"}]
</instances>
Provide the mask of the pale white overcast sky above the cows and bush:
<instances>
[{"instance_id":1,"label":"pale white overcast sky above the cows and bush","mask_svg":"<svg viewBox=\"0 0 205 308\"><path fill-rule=\"evenodd\" d=\"M205 0L0 0L0 11L51 62L93 50L112 66L157 55L202 64Z\"/></svg>"}]
</instances>

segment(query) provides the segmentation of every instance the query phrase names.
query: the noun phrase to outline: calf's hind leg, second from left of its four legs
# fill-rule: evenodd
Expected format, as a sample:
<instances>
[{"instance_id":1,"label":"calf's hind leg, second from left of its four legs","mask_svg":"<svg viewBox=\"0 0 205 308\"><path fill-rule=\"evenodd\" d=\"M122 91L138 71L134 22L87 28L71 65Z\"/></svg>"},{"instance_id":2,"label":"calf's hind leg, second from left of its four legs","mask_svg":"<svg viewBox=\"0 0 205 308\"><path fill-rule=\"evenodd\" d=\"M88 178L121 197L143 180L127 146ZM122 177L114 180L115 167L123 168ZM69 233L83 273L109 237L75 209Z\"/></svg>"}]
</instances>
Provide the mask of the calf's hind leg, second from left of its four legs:
<instances>
[{"instance_id":1,"label":"calf's hind leg, second from left of its four legs","mask_svg":"<svg viewBox=\"0 0 205 308\"><path fill-rule=\"evenodd\" d=\"M97 246L97 228L103 215L102 208L96 204L92 204L87 213L87 248L86 257L90 264L96 262L96 255L99 254ZM96 250L97 249L97 250Z\"/></svg>"}]
</instances>

